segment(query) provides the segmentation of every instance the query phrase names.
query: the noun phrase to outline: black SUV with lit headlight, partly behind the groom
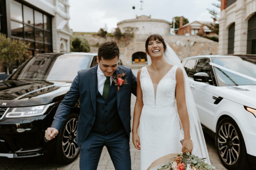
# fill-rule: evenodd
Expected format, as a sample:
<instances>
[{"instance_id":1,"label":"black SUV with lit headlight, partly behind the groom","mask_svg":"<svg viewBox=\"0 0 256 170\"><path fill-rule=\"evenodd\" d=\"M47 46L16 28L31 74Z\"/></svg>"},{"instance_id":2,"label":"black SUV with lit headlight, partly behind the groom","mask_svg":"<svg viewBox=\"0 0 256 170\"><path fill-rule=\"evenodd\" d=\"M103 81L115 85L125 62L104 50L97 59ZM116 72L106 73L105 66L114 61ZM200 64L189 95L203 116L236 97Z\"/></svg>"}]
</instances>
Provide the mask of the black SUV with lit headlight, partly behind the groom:
<instances>
[{"instance_id":1,"label":"black SUV with lit headlight, partly behind the groom","mask_svg":"<svg viewBox=\"0 0 256 170\"><path fill-rule=\"evenodd\" d=\"M0 82L0 157L35 157L54 151L51 155L61 163L76 159L79 101L55 140L45 143L44 135L77 72L97 65L96 55L38 54Z\"/></svg>"}]
</instances>

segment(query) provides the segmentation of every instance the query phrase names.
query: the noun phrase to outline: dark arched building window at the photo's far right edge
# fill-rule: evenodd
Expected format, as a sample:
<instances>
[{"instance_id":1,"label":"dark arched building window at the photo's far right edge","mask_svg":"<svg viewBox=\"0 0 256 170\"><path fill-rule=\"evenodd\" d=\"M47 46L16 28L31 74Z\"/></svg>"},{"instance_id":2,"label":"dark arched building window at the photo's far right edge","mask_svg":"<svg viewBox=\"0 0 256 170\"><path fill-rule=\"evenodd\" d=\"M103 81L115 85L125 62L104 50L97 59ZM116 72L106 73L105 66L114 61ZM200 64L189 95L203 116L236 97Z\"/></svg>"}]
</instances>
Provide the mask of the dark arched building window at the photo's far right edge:
<instances>
[{"instance_id":1,"label":"dark arched building window at the photo's far right edge","mask_svg":"<svg viewBox=\"0 0 256 170\"><path fill-rule=\"evenodd\" d=\"M256 13L248 20L247 54L256 54Z\"/></svg>"}]
</instances>

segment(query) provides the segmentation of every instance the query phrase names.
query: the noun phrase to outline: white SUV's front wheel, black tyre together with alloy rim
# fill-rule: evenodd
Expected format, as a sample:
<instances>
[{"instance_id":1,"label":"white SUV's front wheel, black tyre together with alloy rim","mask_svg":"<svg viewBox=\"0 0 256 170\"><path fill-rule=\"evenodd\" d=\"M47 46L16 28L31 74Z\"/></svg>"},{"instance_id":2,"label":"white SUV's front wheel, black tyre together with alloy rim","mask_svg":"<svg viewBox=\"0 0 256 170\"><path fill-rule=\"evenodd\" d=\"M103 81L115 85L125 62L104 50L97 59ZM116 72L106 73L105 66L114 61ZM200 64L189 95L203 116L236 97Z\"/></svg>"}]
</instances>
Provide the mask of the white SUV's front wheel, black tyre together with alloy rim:
<instances>
[{"instance_id":1,"label":"white SUV's front wheel, black tyre together with alloy rim","mask_svg":"<svg viewBox=\"0 0 256 170\"><path fill-rule=\"evenodd\" d=\"M227 169L251 169L244 138L233 119L225 118L219 122L215 143L219 158Z\"/></svg>"}]
</instances>

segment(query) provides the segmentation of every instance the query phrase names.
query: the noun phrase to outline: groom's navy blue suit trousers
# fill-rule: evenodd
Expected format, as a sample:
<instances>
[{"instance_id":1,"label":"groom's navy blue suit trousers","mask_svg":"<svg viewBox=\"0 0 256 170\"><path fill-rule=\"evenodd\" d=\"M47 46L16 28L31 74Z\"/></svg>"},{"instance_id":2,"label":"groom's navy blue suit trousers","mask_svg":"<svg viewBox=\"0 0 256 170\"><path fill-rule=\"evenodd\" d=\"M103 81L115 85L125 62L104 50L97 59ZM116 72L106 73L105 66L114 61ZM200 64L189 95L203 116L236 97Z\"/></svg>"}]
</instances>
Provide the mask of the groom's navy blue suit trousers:
<instances>
[{"instance_id":1,"label":"groom's navy blue suit trousers","mask_svg":"<svg viewBox=\"0 0 256 170\"><path fill-rule=\"evenodd\" d=\"M90 132L80 147L80 170L97 170L103 146L106 146L116 170L131 170L131 154L124 128L114 134Z\"/></svg>"}]
</instances>

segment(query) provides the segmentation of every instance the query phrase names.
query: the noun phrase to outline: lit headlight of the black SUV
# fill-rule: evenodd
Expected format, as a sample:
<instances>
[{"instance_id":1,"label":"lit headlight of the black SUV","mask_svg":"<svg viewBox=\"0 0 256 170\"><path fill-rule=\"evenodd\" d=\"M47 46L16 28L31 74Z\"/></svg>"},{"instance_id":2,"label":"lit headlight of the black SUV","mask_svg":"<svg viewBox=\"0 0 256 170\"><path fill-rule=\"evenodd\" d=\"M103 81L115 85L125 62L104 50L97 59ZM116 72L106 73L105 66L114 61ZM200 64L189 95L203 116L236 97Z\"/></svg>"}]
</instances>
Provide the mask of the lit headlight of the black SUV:
<instances>
[{"instance_id":1,"label":"lit headlight of the black SUV","mask_svg":"<svg viewBox=\"0 0 256 170\"><path fill-rule=\"evenodd\" d=\"M44 115L47 109L53 104L54 103L39 106L10 108L8 109L5 117L17 118Z\"/></svg>"}]
</instances>

